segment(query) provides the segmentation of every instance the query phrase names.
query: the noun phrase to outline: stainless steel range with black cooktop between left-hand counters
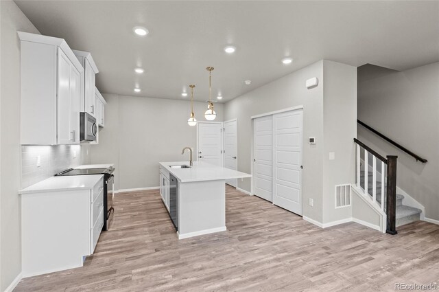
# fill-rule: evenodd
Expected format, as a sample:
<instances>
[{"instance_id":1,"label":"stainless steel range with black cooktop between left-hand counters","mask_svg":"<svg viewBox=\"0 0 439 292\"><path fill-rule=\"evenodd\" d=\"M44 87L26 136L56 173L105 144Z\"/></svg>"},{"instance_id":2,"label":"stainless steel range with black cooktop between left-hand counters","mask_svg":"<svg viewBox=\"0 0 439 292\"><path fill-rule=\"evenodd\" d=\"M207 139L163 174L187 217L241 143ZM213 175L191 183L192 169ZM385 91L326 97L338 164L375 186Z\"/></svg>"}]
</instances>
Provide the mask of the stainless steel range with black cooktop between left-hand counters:
<instances>
[{"instance_id":1,"label":"stainless steel range with black cooktop between left-hand counters","mask_svg":"<svg viewBox=\"0 0 439 292\"><path fill-rule=\"evenodd\" d=\"M110 166L109 168L84 168L84 169L74 169L69 168L58 172L55 176L66 176L66 175L104 175L104 226L102 230L106 231L110 229L112 223L112 216L115 209L112 207L112 199L115 193L115 168Z\"/></svg>"}]
</instances>

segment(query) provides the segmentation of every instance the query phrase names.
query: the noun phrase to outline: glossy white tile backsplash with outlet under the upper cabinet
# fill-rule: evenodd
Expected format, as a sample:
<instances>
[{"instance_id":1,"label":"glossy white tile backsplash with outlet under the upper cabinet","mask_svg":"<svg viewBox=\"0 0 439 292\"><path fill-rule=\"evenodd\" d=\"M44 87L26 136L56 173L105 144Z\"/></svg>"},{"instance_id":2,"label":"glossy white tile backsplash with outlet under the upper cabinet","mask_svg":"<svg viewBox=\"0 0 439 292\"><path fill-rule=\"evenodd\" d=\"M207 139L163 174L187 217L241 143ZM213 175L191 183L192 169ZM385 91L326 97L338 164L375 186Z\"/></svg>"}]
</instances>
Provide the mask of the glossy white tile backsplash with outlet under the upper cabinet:
<instances>
[{"instance_id":1,"label":"glossy white tile backsplash with outlet under the upper cabinet","mask_svg":"<svg viewBox=\"0 0 439 292\"><path fill-rule=\"evenodd\" d=\"M37 166L38 156L40 166ZM80 145L21 146L21 188L27 188L80 164Z\"/></svg>"}]
</instances>

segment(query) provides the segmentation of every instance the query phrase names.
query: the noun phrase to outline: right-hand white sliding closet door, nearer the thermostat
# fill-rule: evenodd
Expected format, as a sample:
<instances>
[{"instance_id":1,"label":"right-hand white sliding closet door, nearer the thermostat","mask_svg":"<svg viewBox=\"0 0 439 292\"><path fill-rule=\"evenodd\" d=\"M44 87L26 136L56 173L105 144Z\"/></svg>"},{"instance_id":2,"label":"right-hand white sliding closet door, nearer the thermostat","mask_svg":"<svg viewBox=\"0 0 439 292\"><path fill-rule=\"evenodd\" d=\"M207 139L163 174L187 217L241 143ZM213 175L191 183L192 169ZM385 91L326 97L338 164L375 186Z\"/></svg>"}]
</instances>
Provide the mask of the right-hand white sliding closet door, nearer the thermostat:
<instances>
[{"instance_id":1,"label":"right-hand white sliding closet door, nearer the thermostat","mask_svg":"<svg viewBox=\"0 0 439 292\"><path fill-rule=\"evenodd\" d=\"M273 203L302 215L302 109L273 115Z\"/></svg>"}]
</instances>

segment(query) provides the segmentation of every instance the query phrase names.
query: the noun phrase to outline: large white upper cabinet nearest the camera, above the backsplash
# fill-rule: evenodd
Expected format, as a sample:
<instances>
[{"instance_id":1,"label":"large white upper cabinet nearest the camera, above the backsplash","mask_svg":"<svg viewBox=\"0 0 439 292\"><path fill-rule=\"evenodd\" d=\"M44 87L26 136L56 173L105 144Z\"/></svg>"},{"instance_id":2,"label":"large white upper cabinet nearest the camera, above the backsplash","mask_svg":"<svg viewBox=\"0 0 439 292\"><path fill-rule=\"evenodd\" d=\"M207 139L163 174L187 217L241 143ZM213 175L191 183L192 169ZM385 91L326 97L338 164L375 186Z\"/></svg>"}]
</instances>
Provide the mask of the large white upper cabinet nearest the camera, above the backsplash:
<instances>
[{"instance_id":1,"label":"large white upper cabinet nearest the camera, above the backsplash","mask_svg":"<svg viewBox=\"0 0 439 292\"><path fill-rule=\"evenodd\" d=\"M64 39L18 34L21 144L79 144L80 76L84 68Z\"/></svg>"}]
</instances>

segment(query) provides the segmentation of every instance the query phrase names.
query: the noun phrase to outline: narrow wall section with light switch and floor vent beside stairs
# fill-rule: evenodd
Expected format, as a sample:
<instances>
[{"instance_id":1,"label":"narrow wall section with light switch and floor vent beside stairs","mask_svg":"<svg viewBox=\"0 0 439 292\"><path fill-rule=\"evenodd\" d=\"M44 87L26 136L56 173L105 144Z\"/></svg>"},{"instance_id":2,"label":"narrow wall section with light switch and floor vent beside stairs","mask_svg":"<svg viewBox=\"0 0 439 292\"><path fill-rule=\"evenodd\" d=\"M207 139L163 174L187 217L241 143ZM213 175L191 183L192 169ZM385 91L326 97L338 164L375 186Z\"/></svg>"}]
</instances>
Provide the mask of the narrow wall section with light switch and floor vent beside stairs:
<instances>
[{"instance_id":1,"label":"narrow wall section with light switch and floor vent beside stairs","mask_svg":"<svg viewBox=\"0 0 439 292\"><path fill-rule=\"evenodd\" d=\"M323 223L329 223L352 215L352 207L335 209L335 185L355 181L357 67L325 60L323 78Z\"/></svg>"}]
</instances>

